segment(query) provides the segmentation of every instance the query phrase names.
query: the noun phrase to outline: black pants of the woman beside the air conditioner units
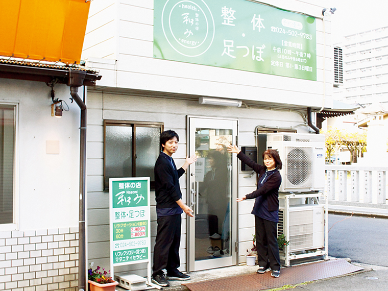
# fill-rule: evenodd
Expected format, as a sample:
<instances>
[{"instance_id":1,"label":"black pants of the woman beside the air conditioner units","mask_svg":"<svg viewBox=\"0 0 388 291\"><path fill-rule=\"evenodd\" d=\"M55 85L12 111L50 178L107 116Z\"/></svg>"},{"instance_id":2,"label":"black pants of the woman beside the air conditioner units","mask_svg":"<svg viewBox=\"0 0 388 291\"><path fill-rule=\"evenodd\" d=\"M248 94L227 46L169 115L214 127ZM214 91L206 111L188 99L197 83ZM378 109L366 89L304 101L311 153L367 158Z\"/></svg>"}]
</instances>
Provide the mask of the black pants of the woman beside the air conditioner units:
<instances>
[{"instance_id":1,"label":"black pants of the woman beside the air conditioner units","mask_svg":"<svg viewBox=\"0 0 388 291\"><path fill-rule=\"evenodd\" d=\"M280 270L277 223L255 215L257 261L259 266Z\"/></svg>"}]
</instances>

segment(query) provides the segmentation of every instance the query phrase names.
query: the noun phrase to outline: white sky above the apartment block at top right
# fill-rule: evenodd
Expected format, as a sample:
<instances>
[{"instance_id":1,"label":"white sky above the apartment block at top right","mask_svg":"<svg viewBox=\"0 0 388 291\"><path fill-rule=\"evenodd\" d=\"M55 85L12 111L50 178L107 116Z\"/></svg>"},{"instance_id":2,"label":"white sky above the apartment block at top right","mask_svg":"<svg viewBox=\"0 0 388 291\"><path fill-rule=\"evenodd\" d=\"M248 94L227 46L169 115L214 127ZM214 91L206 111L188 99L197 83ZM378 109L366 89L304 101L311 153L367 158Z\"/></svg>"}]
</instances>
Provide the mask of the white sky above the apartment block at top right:
<instances>
[{"instance_id":1,"label":"white sky above the apartment block at top right","mask_svg":"<svg viewBox=\"0 0 388 291\"><path fill-rule=\"evenodd\" d=\"M327 8L337 11L331 16L333 43L341 37L380 27L388 27L388 0L324 0Z\"/></svg>"}]
</instances>

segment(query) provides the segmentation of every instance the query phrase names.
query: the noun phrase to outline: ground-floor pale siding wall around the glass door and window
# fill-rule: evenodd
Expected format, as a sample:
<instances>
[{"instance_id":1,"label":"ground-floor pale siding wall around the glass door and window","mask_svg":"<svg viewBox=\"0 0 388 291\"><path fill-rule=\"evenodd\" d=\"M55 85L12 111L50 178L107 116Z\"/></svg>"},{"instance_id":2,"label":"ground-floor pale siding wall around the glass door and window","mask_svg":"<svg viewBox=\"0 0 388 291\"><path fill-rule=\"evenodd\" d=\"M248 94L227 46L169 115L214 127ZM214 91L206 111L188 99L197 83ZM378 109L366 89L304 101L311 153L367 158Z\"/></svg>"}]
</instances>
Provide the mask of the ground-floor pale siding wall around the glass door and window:
<instances>
[{"instance_id":1,"label":"ground-floor pale siding wall around the glass door and window","mask_svg":"<svg viewBox=\"0 0 388 291\"><path fill-rule=\"evenodd\" d=\"M239 146L255 146L254 131L258 125L268 127L290 127L302 123L302 117L295 112L262 110L257 108L232 108L200 105L197 101L155 98L129 94L112 94L88 91L88 137L87 137L87 181L88 181L88 260L109 268L109 194L103 192L104 165L104 119L131 120L142 122L163 122L164 129L175 130L180 137L178 152L174 160L179 167L186 156L186 115L217 116L237 118ZM307 127L298 131L307 132ZM240 163L239 163L240 164ZM239 171L238 197L255 189L255 176L245 178L247 172ZM186 201L186 175L180 179L183 201ZM254 216L251 213L253 201L238 205L239 262L245 262L245 252L254 233ZM186 217L182 215L182 238L180 246L181 270L186 270ZM151 248L156 236L155 193L151 191ZM152 254L153 256L153 254ZM146 276L146 265L120 267L115 272L137 270Z\"/></svg>"}]
</instances>

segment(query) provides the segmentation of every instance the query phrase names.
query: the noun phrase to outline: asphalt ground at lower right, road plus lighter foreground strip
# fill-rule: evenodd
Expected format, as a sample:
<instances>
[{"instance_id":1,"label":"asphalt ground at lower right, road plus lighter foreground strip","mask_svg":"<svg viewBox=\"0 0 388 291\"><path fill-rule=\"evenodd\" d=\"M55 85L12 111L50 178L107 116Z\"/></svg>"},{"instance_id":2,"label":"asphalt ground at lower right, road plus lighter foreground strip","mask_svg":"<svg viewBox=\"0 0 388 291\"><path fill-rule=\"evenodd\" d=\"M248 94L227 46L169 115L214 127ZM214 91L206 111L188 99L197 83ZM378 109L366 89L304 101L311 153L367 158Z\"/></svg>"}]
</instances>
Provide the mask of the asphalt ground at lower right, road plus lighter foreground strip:
<instances>
[{"instance_id":1,"label":"asphalt ground at lower right, road plus lighter foreground strip","mask_svg":"<svg viewBox=\"0 0 388 291\"><path fill-rule=\"evenodd\" d=\"M295 291L381 291L388 282L388 219L329 214L329 255L367 272L308 282ZM345 219L345 220L344 220Z\"/></svg>"}]
</instances>

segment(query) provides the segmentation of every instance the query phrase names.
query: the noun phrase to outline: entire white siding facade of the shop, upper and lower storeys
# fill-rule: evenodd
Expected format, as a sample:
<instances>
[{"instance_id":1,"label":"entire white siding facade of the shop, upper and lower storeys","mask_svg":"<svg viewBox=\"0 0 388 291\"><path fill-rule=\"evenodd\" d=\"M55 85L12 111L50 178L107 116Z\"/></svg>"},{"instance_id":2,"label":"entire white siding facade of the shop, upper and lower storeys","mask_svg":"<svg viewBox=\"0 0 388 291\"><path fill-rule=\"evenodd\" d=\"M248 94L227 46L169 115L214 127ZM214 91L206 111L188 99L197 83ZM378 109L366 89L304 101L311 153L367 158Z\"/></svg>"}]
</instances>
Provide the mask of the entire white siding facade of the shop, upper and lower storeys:
<instances>
[{"instance_id":1,"label":"entire white siding facade of the shop, upper and lower storeys","mask_svg":"<svg viewBox=\"0 0 388 291\"><path fill-rule=\"evenodd\" d=\"M283 9L320 17L323 7L318 2L268 1ZM321 108L323 104L331 107L333 53L330 22L326 22L324 28L323 21L317 18L318 80L307 81L154 59L153 6L154 0L94 0L89 13L83 58L88 58L87 65L100 70L103 78L97 82L96 89L99 91L89 91L87 104L88 259L102 266L109 266L109 198L108 193L103 192L104 119L163 122L165 129L176 130L182 141L174 156L179 166L183 164L186 155L186 115L237 118L239 146L255 145L254 131L258 125L289 128L303 123L303 120L295 112L204 106L199 105L197 100L186 99L185 95L181 97L186 100L160 98L160 92L251 100L275 107L296 105L304 111L306 107ZM130 90L126 89L147 96L137 96L128 93ZM153 95L152 91L158 92L158 96ZM298 128L298 132L307 131L307 127ZM255 188L255 179L245 178L246 174L241 172L238 175L238 196L241 197ZM180 183L185 199L185 176L180 179ZM154 193L151 201L155 203ZM242 203L238 207L239 262L245 261L244 255L251 244L251 234L254 233L254 219L250 214L252 203ZM151 212L153 250L156 235L155 204L151 205ZM182 225L181 270L185 270L185 222ZM145 265L126 268L137 268L139 275L146 275Z\"/></svg>"}]
</instances>

